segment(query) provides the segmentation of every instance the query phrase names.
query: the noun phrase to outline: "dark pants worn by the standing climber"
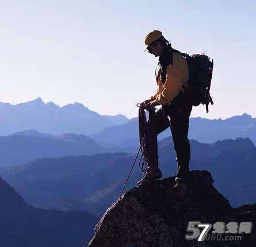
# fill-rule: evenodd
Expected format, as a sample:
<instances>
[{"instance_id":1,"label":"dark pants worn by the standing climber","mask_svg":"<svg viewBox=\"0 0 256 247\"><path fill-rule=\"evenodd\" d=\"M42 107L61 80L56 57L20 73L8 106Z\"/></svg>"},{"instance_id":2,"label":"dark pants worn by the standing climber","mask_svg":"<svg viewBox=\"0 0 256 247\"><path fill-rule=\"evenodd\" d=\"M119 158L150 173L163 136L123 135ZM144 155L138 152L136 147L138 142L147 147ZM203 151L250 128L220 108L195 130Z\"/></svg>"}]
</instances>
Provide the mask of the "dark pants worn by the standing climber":
<instances>
[{"instance_id":1,"label":"dark pants worn by the standing climber","mask_svg":"<svg viewBox=\"0 0 256 247\"><path fill-rule=\"evenodd\" d=\"M168 127L171 128L178 167L175 181L184 183L187 182L189 174L190 144L188 131L191 111L192 104L188 102L187 97L181 92L171 103L157 109L155 113L151 112L150 119L148 120L152 121L155 126L155 131L152 131L153 134L149 139L151 143L148 144L153 147L152 151L154 151L151 157L154 156L156 159L158 159L157 135ZM154 117L154 119L152 119L152 117ZM156 133L156 135L154 133Z\"/></svg>"}]
</instances>

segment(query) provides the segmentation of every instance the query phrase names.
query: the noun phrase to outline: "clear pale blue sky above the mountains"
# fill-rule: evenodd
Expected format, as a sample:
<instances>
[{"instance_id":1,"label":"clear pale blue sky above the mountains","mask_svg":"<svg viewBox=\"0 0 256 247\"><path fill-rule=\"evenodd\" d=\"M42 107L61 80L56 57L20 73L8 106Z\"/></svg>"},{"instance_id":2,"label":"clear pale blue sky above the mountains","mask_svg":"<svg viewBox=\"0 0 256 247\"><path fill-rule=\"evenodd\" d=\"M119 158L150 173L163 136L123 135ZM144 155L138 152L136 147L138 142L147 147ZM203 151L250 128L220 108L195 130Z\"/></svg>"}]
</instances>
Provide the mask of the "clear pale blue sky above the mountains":
<instances>
[{"instance_id":1,"label":"clear pale blue sky above the mountains","mask_svg":"<svg viewBox=\"0 0 256 247\"><path fill-rule=\"evenodd\" d=\"M256 116L256 2L0 0L0 101L41 97L100 114L137 116L156 91L158 58L143 53L159 29L174 48L215 60L215 105L192 116Z\"/></svg>"}]
</instances>

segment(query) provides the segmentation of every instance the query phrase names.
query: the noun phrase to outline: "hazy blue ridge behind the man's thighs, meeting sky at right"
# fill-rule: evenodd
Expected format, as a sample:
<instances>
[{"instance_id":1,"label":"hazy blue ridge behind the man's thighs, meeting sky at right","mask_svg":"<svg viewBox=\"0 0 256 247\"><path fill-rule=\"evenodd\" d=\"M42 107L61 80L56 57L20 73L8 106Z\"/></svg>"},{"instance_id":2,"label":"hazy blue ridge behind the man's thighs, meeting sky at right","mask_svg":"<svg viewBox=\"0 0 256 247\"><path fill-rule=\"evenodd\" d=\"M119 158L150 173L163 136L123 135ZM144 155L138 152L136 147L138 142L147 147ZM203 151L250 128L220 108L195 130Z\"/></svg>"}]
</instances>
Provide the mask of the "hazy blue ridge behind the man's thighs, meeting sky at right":
<instances>
[{"instance_id":1,"label":"hazy blue ridge behind the man's thighs, meeting sky at right","mask_svg":"<svg viewBox=\"0 0 256 247\"><path fill-rule=\"evenodd\" d=\"M119 148L119 151L136 151L139 144L138 118L134 117L120 126L108 127L90 135L102 146ZM159 135L159 140L171 136L170 128ZM244 113L228 119L204 119L191 117L189 139L202 143L213 143L217 140L250 138L256 144L256 118Z\"/></svg>"}]
</instances>

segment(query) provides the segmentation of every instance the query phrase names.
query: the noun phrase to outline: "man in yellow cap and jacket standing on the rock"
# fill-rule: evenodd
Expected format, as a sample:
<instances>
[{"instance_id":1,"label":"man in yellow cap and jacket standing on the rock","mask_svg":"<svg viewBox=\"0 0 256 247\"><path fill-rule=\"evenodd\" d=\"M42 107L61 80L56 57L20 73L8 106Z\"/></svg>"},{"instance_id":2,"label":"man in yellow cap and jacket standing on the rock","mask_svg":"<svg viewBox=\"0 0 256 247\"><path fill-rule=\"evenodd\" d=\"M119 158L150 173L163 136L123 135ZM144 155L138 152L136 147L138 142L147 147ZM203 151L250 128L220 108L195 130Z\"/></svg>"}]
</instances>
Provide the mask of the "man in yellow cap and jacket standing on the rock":
<instances>
[{"instance_id":1,"label":"man in yellow cap and jacket standing on the rock","mask_svg":"<svg viewBox=\"0 0 256 247\"><path fill-rule=\"evenodd\" d=\"M148 52L159 57L160 68L156 73L157 92L150 99L144 101L142 107L148 111L154 111L156 105L162 105L154 115L156 133L158 135L170 127L177 154L178 172L175 177L175 185L170 188L169 192L173 195L184 195L189 174L188 130L189 116L192 111L192 104L185 93L189 83L188 64L181 54L172 51L169 41L163 37L160 31L153 30L148 33L144 42ZM151 137L150 140L151 143L148 144L152 146L151 150L154 152L148 163L150 169L146 171L146 175L138 184L162 177L162 172L158 168L157 136Z\"/></svg>"}]
</instances>

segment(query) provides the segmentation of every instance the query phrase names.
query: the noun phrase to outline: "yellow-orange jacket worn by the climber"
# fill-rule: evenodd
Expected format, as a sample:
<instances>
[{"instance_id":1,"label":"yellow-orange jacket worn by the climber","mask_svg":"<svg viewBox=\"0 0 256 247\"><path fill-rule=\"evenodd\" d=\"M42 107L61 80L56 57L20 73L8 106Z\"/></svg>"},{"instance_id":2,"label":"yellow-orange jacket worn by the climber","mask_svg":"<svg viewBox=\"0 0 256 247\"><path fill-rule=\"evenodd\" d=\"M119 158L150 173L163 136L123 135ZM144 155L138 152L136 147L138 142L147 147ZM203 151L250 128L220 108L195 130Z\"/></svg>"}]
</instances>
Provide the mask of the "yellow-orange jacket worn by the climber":
<instances>
[{"instance_id":1,"label":"yellow-orange jacket worn by the climber","mask_svg":"<svg viewBox=\"0 0 256 247\"><path fill-rule=\"evenodd\" d=\"M151 96L151 100L156 100L161 105L170 103L179 93L184 92L184 88L188 87L189 70L186 58L181 54L173 53L173 64L167 65L165 83L161 81L161 68L158 70L157 92Z\"/></svg>"}]
</instances>

